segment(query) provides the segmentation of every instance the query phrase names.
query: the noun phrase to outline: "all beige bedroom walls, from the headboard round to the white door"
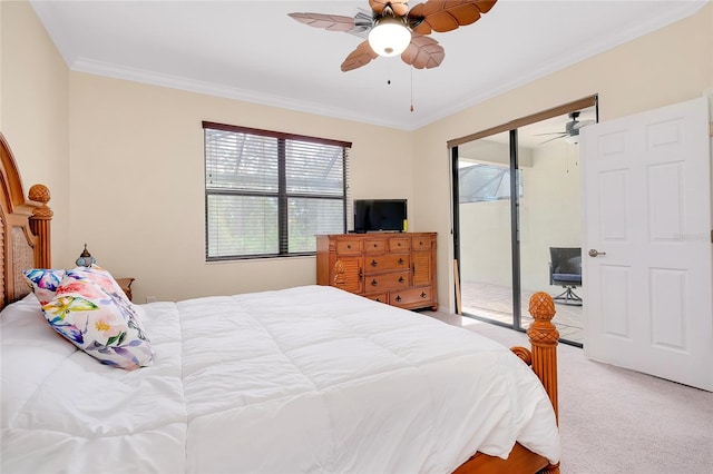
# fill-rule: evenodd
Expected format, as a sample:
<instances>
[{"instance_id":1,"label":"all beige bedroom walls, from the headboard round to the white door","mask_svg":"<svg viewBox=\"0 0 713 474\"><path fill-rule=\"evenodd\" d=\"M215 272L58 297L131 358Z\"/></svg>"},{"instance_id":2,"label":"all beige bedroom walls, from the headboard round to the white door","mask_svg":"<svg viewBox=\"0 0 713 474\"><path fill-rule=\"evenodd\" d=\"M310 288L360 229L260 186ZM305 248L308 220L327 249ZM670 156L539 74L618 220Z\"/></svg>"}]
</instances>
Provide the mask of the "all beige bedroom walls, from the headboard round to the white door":
<instances>
[{"instance_id":1,"label":"all beige bedroom walls, from the headboard round to the white door","mask_svg":"<svg viewBox=\"0 0 713 474\"><path fill-rule=\"evenodd\" d=\"M27 2L0 9L0 125L26 188L52 191L53 264L71 265L86 241L115 275L137 278L138 302L314 282L314 258L205 264L202 120L352 141L353 196L408 198L410 229L439 233L448 308L447 140L595 92L607 120L713 87L711 4L413 132L69 72Z\"/></svg>"}]
</instances>

